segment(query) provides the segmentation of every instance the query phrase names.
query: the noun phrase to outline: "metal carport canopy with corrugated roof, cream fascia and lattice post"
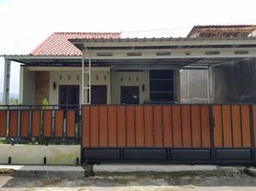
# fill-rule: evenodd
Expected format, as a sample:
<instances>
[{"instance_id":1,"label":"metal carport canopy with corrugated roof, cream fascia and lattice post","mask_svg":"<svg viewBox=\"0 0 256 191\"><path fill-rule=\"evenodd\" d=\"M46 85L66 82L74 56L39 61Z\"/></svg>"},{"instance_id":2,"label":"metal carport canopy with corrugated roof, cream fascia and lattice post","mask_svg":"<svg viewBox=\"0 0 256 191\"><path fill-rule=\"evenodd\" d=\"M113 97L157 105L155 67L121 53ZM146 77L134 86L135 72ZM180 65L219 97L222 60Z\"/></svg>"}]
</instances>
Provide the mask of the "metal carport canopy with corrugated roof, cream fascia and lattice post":
<instances>
[{"instance_id":1,"label":"metal carport canopy with corrugated roof, cream fascia and lattice post","mask_svg":"<svg viewBox=\"0 0 256 191\"><path fill-rule=\"evenodd\" d=\"M256 57L256 37L110 38L70 39L69 41L82 51L83 56L4 55L4 57L8 60L6 63L10 62L9 65L11 61L16 61L26 66L81 67L82 103L84 104L91 103L92 66L107 66L115 70L209 70L220 64ZM8 103L10 87L8 76L11 69L9 68L5 69L5 104ZM88 75L88 84L84 83L85 75ZM88 98L84 100L86 91Z\"/></svg>"}]
</instances>

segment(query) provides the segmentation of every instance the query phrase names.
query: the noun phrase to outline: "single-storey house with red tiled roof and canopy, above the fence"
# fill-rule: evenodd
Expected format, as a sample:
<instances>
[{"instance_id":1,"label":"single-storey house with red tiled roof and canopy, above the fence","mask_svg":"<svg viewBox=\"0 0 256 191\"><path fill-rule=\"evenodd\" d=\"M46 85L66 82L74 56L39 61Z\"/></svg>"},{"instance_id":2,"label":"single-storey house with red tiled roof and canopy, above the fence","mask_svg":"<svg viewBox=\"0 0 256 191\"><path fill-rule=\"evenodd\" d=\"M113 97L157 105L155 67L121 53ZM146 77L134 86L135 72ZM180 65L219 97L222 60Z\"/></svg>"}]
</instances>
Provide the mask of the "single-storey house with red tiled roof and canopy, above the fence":
<instances>
[{"instance_id":1,"label":"single-storey house with red tiled roof and canopy, above the fence","mask_svg":"<svg viewBox=\"0 0 256 191\"><path fill-rule=\"evenodd\" d=\"M32 53L5 59L7 65L22 63L20 104L40 104L43 98L52 105L181 102L190 100L186 73L202 73L203 83L190 90L197 90L195 96L203 96L203 102L214 102L215 79L202 70L214 73L223 63L253 57L255 29L195 26L186 38L142 39L122 39L115 32L54 32ZM191 83L196 75L190 75Z\"/></svg>"}]
</instances>

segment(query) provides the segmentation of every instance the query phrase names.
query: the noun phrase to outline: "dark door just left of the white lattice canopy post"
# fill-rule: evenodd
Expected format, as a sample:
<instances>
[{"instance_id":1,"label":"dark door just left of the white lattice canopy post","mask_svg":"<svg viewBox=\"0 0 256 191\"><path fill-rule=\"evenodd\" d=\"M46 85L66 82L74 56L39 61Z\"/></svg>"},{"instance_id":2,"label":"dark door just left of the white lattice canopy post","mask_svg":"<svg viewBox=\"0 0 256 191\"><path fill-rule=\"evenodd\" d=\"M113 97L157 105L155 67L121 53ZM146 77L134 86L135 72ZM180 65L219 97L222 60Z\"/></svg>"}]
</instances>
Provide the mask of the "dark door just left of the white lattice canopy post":
<instances>
[{"instance_id":1,"label":"dark door just left of the white lattice canopy post","mask_svg":"<svg viewBox=\"0 0 256 191\"><path fill-rule=\"evenodd\" d=\"M79 105L79 86L59 86L60 109L76 109Z\"/></svg>"}]
</instances>

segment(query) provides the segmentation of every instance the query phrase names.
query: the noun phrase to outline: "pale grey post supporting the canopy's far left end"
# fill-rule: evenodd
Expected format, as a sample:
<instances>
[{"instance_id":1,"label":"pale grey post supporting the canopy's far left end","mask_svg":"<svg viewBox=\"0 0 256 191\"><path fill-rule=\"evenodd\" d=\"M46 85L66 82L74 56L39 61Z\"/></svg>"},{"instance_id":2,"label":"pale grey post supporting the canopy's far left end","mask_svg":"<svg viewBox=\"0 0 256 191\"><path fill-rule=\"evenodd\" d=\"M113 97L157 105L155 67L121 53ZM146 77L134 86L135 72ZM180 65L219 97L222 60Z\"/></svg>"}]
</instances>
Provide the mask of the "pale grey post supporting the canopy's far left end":
<instances>
[{"instance_id":1,"label":"pale grey post supporting the canopy's far left end","mask_svg":"<svg viewBox=\"0 0 256 191\"><path fill-rule=\"evenodd\" d=\"M5 71L4 71L4 96L3 103L9 104L10 98L10 77L11 77L11 60L5 59Z\"/></svg>"}]
</instances>

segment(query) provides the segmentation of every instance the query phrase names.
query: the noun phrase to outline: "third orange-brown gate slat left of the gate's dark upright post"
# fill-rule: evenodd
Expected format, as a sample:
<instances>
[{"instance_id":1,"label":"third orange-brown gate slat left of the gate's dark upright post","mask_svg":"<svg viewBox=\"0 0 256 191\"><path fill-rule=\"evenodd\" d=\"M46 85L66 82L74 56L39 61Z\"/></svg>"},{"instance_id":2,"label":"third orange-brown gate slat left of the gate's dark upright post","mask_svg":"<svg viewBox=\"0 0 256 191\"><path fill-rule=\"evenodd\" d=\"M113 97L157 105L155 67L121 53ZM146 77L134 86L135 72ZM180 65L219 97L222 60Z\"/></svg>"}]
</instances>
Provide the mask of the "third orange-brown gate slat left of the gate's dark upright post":
<instances>
[{"instance_id":1,"label":"third orange-brown gate slat left of the gate's dark upright post","mask_svg":"<svg viewBox=\"0 0 256 191\"><path fill-rule=\"evenodd\" d=\"M181 106L181 120L182 120L182 142L183 147L191 147L191 124L190 124L190 106Z\"/></svg>"}]
</instances>

